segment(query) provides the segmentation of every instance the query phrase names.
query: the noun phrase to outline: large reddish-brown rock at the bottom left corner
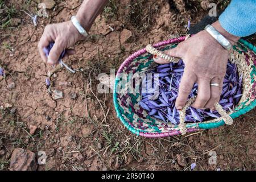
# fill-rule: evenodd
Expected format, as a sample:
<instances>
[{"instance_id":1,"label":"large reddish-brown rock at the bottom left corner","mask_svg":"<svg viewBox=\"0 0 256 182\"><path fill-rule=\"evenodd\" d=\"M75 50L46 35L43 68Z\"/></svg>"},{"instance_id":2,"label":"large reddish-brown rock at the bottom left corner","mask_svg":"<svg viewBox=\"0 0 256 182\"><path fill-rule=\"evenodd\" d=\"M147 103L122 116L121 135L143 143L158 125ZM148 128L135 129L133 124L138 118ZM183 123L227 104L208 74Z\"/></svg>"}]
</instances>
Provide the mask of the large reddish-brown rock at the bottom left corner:
<instances>
[{"instance_id":1,"label":"large reddish-brown rock at the bottom left corner","mask_svg":"<svg viewBox=\"0 0 256 182\"><path fill-rule=\"evenodd\" d=\"M38 167L36 155L30 150L16 148L11 155L10 169L13 171L35 171Z\"/></svg>"}]
</instances>

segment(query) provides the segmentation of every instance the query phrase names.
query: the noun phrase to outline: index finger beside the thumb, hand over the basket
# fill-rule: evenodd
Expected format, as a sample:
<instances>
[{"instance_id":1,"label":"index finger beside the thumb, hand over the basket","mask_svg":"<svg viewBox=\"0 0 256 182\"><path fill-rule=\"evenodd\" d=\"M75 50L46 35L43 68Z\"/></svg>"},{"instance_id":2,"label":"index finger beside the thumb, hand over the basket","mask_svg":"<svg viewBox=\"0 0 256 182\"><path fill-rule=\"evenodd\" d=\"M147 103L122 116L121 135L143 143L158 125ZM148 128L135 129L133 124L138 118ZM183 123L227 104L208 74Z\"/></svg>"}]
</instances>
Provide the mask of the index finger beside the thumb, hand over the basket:
<instances>
[{"instance_id":1,"label":"index finger beside the thumb, hand over the basket","mask_svg":"<svg viewBox=\"0 0 256 182\"><path fill-rule=\"evenodd\" d=\"M175 106L177 110L181 110L188 100L188 95L191 93L193 85L196 82L196 76L192 75L186 67L181 78L178 97L175 102Z\"/></svg>"}]
</instances>

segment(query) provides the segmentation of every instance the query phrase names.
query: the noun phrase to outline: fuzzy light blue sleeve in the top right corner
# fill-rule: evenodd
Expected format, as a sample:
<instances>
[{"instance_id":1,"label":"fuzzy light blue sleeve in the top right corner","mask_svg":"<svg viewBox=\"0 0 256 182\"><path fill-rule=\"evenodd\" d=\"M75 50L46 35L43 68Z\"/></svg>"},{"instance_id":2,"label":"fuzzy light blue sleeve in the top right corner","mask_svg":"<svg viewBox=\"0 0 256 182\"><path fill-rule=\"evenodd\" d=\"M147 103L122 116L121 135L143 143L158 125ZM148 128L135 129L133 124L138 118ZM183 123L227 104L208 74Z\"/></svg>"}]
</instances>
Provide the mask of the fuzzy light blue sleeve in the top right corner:
<instances>
[{"instance_id":1,"label":"fuzzy light blue sleeve in the top right corner","mask_svg":"<svg viewBox=\"0 0 256 182\"><path fill-rule=\"evenodd\" d=\"M232 0L218 19L221 26L235 36L256 32L256 0Z\"/></svg>"}]
</instances>

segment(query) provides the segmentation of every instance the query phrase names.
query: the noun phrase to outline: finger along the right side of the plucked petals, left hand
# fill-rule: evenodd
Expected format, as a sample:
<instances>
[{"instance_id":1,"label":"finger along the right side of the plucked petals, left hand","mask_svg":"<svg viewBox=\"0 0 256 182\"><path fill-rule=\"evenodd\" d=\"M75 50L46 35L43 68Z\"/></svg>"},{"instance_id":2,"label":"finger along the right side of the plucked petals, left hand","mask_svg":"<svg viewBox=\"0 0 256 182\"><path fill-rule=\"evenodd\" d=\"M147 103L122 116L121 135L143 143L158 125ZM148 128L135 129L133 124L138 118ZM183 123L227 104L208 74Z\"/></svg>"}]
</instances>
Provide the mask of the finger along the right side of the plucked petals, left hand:
<instances>
[{"instance_id":1,"label":"finger along the right side of the plucked petals, left hand","mask_svg":"<svg viewBox=\"0 0 256 182\"><path fill-rule=\"evenodd\" d=\"M60 58L61 52L64 51L64 47L60 40L56 39L51 51L49 52L49 56L47 59L48 64L56 64Z\"/></svg>"}]
</instances>

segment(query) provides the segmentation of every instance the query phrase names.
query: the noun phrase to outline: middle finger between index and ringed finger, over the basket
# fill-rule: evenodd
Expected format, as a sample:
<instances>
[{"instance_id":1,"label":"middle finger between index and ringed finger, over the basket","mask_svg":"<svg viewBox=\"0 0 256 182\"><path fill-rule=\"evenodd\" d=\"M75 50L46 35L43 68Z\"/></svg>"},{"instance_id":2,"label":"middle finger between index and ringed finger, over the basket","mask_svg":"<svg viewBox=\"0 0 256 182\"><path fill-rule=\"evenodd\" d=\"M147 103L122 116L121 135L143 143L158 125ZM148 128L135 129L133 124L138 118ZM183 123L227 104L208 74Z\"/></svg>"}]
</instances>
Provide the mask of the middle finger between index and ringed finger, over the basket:
<instances>
[{"instance_id":1,"label":"middle finger between index and ringed finger, over the basket","mask_svg":"<svg viewBox=\"0 0 256 182\"><path fill-rule=\"evenodd\" d=\"M198 92L196 101L192 104L197 109L205 108L210 99L210 80L201 79L198 81Z\"/></svg>"}]
</instances>

